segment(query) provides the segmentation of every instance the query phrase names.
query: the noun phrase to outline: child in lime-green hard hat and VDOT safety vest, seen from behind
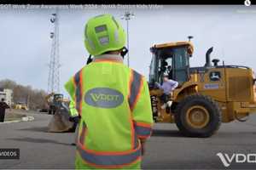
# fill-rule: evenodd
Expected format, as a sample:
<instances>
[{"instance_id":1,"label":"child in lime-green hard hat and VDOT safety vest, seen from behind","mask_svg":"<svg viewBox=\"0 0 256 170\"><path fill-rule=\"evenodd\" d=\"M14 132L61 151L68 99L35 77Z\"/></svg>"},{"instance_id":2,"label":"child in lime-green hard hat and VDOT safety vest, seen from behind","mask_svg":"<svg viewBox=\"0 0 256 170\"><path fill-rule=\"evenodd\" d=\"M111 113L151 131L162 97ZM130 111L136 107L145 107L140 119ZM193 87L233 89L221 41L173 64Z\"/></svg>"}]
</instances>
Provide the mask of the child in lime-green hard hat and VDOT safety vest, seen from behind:
<instances>
[{"instance_id":1,"label":"child in lime-green hard hat and VDOT safety vest, seen from behind","mask_svg":"<svg viewBox=\"0 0 256 170\"><path fill-rule=\"evenodd\" d=\"M93 60L65 84L81 116L77 169L141 168L153 116L145 77L123 64L125 41L111 14L85 25L84 43Z\"/></svg>"}]
</instances>

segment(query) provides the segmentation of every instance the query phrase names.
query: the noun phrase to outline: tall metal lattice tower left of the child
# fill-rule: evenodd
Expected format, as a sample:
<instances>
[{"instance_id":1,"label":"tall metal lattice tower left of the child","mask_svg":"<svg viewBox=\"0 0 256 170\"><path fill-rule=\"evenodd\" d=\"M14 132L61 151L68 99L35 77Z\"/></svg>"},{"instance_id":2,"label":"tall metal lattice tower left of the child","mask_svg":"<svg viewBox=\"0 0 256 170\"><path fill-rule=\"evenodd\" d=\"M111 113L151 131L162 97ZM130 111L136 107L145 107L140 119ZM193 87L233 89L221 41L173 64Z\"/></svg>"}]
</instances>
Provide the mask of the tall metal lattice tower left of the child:
<instances>
[{"instance_id":1,"label":"tall metal lattice tower left of the child","mask_svg":"<svg viewBox=\"0 0 256 170\"><path fill-rule=\"evenodd\" d=\"M60 54L59 54L59 16L58 11L51 14L51 24L54 31L50 32L49 37L52 39L50 59L49 59L49 77L48 93L60 93Z\"/></svg>"}]
</instances>

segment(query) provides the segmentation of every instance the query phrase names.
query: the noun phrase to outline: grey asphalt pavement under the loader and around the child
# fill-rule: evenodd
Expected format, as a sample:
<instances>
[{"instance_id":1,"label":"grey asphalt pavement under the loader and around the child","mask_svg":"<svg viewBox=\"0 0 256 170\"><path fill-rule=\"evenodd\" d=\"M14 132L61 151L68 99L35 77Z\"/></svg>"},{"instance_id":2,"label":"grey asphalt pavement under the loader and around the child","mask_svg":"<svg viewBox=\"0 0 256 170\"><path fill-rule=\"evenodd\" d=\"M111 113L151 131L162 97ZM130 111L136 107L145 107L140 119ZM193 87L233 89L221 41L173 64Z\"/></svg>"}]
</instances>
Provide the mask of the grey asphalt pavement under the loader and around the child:
<instances>
[{"instance_id":1,"label":"grey asphalt pavement under the loader and around the child","mask_svg":"<svg viewBox=\"0 0 256 170\"><path fill-rule=\"evenodd\" d=\"M29 116L34 121L0 124L0 148L20 149L19 160L0 160L0 168L73 169L74 133L48 133L51 116ZM143 169L256 169L256 115L247 122L223 123L207 139L183 137L175 124L157 123L146 146Z\"/></svg>"}]
</instances>

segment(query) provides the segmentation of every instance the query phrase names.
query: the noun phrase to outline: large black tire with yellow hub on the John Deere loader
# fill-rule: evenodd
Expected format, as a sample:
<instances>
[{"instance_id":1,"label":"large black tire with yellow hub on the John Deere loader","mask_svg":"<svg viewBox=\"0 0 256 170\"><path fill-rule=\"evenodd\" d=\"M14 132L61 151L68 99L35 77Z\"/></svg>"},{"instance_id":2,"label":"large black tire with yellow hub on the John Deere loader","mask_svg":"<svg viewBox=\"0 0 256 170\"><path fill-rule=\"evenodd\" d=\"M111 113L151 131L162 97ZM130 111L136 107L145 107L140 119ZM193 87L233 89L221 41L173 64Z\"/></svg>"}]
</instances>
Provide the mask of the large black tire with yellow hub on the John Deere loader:
<instances>
[{"instance_id":1,"label":"large black tire with yellow hub on the John Deere loader","mask_svg":"<svg viewBox=\"0 0 256 170\"><path fill-rule=\"evenodd\" d=\"M206 138L218 131L221 111L210 97L195 94L177 105L175 122L184 135Z\"/></svg>"}]
</instances>

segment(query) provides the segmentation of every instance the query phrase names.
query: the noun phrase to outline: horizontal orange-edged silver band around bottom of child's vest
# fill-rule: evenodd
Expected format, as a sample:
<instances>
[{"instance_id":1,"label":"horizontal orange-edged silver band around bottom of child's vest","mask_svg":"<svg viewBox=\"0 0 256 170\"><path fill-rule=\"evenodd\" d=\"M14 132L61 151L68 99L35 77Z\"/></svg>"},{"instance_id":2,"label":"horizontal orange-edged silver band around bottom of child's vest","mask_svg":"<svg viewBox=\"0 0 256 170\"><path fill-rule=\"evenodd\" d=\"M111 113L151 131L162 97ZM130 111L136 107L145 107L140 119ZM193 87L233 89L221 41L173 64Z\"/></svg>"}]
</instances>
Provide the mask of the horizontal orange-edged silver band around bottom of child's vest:
<instances>
[{"instance_id":1,"label":"horizontal orange-edged silver band around bottom of child's vest","mask_svg":"<svg viewBox=\"0 0 256 170\"><path fill-rule=\"evenodd\" d=\"M99 166L121 166L136 161L141 156L141 149L125 155L96 155L83 150L80 144L77 148L84 161Z\"/></svg>"}]
</instances>

